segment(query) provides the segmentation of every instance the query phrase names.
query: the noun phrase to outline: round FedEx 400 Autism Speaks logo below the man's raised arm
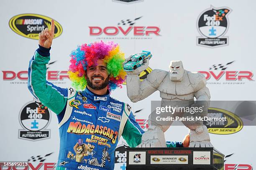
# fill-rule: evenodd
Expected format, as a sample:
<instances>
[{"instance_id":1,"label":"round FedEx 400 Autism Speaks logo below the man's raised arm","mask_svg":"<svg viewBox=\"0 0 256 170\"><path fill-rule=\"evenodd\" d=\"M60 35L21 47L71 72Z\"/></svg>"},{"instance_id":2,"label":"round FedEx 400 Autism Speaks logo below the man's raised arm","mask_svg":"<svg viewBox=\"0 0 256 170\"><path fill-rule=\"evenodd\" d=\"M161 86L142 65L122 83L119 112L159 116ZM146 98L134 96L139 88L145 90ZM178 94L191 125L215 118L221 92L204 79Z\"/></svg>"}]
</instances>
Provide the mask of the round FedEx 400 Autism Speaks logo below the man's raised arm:
<instances>
[{"instance_id":1,"label":"round FedEx 400 Autism Speaks logo below the man's raised arm","mask_svg":"<svg viewBox=\"0 0 256 170\"><path fill-rule=\"evenodd\" d=\"M43 140L50 138L50 130L45 128L48 126L51 115L50 110L44 104L38 101L27 103L20 110L20 125L23 129L19 129L19 138L26 140Z\"/></svg>"}]
</instances>

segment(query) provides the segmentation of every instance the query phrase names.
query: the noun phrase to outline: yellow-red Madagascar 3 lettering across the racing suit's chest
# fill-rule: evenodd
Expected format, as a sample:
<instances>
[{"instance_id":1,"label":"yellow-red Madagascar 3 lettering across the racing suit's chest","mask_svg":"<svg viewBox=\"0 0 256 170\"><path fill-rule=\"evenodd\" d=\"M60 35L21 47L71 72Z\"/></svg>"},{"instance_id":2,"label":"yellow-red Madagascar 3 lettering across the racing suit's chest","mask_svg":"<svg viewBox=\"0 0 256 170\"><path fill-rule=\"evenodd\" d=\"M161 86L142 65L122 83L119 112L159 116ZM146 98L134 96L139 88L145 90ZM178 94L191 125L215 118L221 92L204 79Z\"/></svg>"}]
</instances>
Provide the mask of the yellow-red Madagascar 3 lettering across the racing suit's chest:
<instances>
[{"instance_id":1,"label":"yellow-red Madagascar 3 lettering across the racing suit's chest","mask_svg":"<svg viewBox=\"0 0 256 170\"><path fill-rule=\"evenodd\" d=\"M67 132L74 134L100 134L110 139L112 143L115 143L118 137L118 132L114 132L108 127L99 125L95 127L94 124L87 124L86 126L86 124L81 124L80 122L70 122Z\"/></svg>"}]
</instances>

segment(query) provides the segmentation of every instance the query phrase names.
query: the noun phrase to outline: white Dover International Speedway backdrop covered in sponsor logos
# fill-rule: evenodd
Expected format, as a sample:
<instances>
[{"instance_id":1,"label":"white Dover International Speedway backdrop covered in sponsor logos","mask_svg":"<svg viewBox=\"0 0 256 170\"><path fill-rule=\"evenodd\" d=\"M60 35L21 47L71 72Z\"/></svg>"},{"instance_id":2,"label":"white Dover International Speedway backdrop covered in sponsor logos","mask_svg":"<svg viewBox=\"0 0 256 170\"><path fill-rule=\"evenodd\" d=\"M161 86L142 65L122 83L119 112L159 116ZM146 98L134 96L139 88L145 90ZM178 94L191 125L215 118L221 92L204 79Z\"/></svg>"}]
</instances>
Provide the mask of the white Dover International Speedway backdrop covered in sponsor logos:
<instances>
[{"instance_id":1,"label":"white Dover International Speedway backdrop covered in sponsor logos","mask_svg":"<svg viewBox=\"0 0 256 170\"><path fill-rule=\"evenodd\" d=\"M253 101L255 7L253 0L3 0L0 160L29 160L34 167L40 165L37 169L54 166L57 161L56 115L34 101L27 89L28 61L38 48L38 33L50 26L51 19L56 21L56 30L46 77L57 86L70 86L69 53L77 45L111 40L120 44L126 57L151 51L153 57L141 79L152 69L167 70L171 60L182 60L185 69L205 74L211 100ZM111 95L132 106L144 130L151 112L146 106L151 100L161 100L155 92L132 103L125 85ZM223 114L235 114L233 106L223 104L219 109ZM235 130L211 128L212 144L227 156L226 170L256 166L256 127L241 122ZM166 132L166 140L181 141L187 132L186 127L173 126ZM125 145L121 139L115 151L116 170L125 169Z\"/></svg>"}]
</instances>

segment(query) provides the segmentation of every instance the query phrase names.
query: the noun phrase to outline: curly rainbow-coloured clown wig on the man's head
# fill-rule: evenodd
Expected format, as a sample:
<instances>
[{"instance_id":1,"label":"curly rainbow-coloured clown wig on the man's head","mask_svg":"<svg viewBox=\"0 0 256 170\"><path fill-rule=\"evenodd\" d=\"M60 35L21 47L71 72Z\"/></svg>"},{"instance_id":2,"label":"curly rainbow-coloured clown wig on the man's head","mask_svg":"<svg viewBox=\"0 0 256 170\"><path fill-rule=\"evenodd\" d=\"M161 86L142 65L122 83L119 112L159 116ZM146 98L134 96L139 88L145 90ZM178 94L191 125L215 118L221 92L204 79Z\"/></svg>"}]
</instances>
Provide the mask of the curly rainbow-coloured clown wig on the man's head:
<instances>
[{"instance_id":1,"label":"curly rainbow-coloured clown wig on the man's head","mask_svg":"<svg viewBox=\"0 0 256 170\"><path fill-rule=\"evenodd\" d=\"M123 70L123 62L125 61L124 53L120 51L118 44L109 41L103 41L82 44L70 54L69 79L72 81L72 86L77 90L83 91L87 85L84 77L85 71L90 66L96 66L97 60L102 59L107 63L109 74L108 89L115 90L117 87L122 87L121 84L125 81L126 73Z\"/></svg>"}]
</instances>

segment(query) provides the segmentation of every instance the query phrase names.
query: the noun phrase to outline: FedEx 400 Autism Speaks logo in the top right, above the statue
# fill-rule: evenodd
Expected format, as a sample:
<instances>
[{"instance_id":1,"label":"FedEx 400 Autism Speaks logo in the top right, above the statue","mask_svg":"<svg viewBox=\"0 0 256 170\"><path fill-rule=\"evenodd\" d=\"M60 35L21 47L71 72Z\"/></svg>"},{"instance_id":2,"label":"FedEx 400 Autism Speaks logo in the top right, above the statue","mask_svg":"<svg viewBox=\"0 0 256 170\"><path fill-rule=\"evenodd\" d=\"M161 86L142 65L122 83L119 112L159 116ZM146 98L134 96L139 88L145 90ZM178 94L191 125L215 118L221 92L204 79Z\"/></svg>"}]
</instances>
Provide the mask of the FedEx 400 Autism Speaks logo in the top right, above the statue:
<instances>
[{"instance_id":1,"label":"FedEx 400 Autism Speaks logo in the top right, above the statue","mask_svg":"<svg viewBox=\"0 0 256 170\"><path fill-rule=\"evenodd\" d=\"M197 30L203 37L197 37L197 45L204 47L220 47L228 45L228 37L223 35L228 30L228 13L230 8L214 8L203 11L197 18Z\"/></svg>"}]
</instances>

